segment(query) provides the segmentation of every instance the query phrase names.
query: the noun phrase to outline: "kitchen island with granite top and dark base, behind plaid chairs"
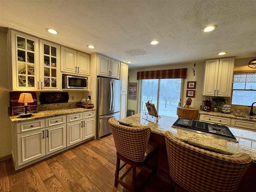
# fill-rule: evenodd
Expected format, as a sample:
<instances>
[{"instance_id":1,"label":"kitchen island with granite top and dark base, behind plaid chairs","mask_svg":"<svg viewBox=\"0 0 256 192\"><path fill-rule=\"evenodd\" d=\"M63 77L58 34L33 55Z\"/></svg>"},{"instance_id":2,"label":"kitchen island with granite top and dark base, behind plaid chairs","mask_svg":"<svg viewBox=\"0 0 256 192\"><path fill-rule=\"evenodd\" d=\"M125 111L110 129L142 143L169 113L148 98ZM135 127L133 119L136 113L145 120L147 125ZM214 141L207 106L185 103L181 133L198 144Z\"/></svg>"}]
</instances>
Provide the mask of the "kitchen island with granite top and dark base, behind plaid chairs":
<instances>
[{"instance_id":1,"label":"kitchen island with granite top and dark base, behind plaid chairs","mask_svg":"<svg viewBox=\"0 0 256 192\"><path fill-rule=\"evenodd\" d=\"M158 174L162 176L169 176L164 133L166 131L170 131L177 139L199 148L227 155L239 152L249 154L252 157L252 164L238 186L238 191L250 191L256 188L256 183L254 182L254 176L256 175L256 132L230 128L230 131L239 141L239 143L236 143L179 128L172 128L172 124L174 124L176 120L177 118L161 116L157 123L153 123L148 120L144 120L141 114L135 114L133 116L120 119L118 122L120 124L133 127L147 126L150 128L150 140L158 142L159 145Z\"/></svg>"}]
</instances>

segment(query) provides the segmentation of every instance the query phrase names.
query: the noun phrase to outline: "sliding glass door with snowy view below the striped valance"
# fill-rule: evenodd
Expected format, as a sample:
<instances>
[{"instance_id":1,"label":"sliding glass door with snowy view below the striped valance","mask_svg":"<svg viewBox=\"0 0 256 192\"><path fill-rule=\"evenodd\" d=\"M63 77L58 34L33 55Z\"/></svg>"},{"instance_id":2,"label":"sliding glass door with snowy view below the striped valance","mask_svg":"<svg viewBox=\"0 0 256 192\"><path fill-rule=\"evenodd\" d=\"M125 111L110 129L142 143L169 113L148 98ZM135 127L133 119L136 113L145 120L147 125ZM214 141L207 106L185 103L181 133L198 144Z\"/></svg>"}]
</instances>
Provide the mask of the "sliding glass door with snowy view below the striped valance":
<instances>
[{"instance_id":1,"label":"sliding glass door with snowy view below the striped valance","mask_svg":"<svg viewBox=\"0 0 256 192\"><path fill-rule=\"evenodd\" d=\"M154 103L158 115L177 117L176 108L180 103L180 78L141 80L140 110L144 112L145 103Z\"/></svg>"}]
</instances>

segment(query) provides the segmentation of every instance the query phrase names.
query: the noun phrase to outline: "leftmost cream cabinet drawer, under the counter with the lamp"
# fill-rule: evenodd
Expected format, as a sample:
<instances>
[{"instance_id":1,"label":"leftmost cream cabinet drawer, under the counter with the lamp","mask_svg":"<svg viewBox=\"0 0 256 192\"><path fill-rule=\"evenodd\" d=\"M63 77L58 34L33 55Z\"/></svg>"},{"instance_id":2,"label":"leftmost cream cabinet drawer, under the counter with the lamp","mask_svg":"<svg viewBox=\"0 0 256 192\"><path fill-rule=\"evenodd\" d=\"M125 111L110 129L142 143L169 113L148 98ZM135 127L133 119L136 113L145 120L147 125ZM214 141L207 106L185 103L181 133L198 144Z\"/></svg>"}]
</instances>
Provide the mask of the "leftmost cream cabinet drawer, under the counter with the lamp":
<instances>
[{"instance_id":1,"label":"leftmost cream cabinet drawer, under the counter with the lamp","mask_svg":"<svg viewBox=\"0 0 256 192\"><path fill-rule=\"evenodd\" d=\"M17 128L17 133L44 128L44 119L17 123L16 128Z\"/></svg>"}]
</instances>

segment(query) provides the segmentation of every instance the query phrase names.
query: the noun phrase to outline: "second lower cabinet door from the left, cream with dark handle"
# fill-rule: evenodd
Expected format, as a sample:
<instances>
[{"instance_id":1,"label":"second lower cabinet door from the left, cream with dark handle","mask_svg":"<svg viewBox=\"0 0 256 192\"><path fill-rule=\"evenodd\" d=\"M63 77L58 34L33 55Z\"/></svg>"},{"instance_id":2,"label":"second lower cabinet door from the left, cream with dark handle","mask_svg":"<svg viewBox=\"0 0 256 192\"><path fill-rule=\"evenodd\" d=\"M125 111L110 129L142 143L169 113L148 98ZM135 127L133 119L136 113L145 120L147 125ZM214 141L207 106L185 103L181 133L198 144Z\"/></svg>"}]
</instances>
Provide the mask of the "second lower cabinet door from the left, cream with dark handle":
<instances>
[{"instance_id":1,"label":"second lower cabinet door from the left, cream with dark handle","mask_svg":"<svg viewBox=\"0 0 256 192\"><path fill-rule=\"evenodd\" d=\"M66 124L47 127L46 155L66 147Z\"/></svg>"}]
</instances>

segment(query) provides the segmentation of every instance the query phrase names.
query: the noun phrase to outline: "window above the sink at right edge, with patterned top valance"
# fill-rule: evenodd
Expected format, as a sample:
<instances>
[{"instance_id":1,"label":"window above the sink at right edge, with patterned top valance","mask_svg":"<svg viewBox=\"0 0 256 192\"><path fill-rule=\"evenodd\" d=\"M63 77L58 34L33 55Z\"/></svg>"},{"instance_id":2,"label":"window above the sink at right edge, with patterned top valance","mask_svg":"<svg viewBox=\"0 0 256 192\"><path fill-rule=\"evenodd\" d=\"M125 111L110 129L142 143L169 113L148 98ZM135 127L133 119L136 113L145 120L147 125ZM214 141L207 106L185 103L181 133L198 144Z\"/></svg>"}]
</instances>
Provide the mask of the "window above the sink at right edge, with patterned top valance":
<instances>
[{"instance_id":1,"label":"window above the sink at right edge, with patterned top valance","mask_svg":"<svg viewBox=\"0 0 256 192\"><path fill-rule=\"evenodd\" d=\"M256 72L234 73L232 105L250 106L256 102Z\"/></svg>"}]
</instances>

